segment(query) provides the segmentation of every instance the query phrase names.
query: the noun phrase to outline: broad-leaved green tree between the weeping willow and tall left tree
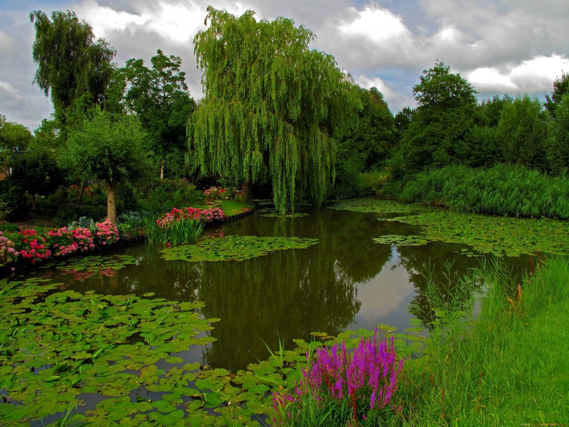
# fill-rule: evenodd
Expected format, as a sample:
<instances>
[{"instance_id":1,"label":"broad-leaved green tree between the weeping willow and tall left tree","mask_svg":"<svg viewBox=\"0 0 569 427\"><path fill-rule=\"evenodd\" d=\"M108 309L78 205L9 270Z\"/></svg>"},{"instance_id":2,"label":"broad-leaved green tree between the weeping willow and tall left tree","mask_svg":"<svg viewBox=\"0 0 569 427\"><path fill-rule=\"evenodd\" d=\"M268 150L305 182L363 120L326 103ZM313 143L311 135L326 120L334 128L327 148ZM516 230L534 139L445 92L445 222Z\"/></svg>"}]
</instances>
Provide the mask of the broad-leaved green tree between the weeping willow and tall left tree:
<instances>
[{"instance_id":1,"label":"broad-leaved green tree between the weeping willow and tall left tree","mask_svg":"<svg viewBox=\"0 0 569 427\"><path fill-rule=\"evenodd\" d=\"M152 67L147 68L142 59L126 61L121 70L126 82L123 103L128 112L137 113L163 178L166 166L176 169L175 163L184 162L186 125L196 103L189 95L185 72L180 71L179 56L158 50L150 62Z\"/></svg>"}]
</instances>

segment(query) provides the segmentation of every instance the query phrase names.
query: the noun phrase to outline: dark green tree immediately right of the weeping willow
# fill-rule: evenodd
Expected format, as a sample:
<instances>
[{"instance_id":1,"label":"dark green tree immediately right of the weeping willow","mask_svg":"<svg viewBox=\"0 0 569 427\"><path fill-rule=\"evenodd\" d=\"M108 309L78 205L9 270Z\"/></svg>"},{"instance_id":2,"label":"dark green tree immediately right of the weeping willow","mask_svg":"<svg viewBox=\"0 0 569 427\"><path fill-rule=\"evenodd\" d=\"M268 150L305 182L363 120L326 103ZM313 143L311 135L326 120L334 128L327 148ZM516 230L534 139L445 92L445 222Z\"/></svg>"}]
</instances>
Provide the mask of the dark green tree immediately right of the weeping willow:
<instances>
[{"instance_id":1,"label":"dark green tree immediately right of the weeping willow","mask_svg":"<svg viewBox=\"0 0 569 427\"><path fill-rule=\"evenodd\" d=\"M377 88L358 88L363 109L356 125L338 142L338 158L357 163L361 170L370 170L384 161L395 142L395 119Z\"/></svg>"}]
</instances>

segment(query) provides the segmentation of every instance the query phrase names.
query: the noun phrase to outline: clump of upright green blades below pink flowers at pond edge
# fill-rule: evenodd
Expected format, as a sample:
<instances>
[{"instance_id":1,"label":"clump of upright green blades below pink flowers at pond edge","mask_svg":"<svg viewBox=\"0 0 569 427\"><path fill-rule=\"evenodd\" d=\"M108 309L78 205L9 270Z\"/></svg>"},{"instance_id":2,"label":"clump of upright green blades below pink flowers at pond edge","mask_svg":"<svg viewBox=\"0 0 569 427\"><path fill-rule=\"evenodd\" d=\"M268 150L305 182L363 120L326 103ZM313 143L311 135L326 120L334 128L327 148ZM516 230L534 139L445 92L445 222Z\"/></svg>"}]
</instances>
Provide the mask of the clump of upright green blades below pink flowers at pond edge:
<instances>
[{"instance_id":1,"label":"clump of upright green blades below pink flowers at pond edge","mask_svg":"<svg viewBox=\"0 0 569 427\"><path fill-rule=\"evenodd\" d=\"M160 244L194 244L204 229L203 221L183 217L179 220L172 221L168 227L164 228L156 223L155 216L145 216L143 221L146 239L150 242Z\"/></svg>"}]
</instances>

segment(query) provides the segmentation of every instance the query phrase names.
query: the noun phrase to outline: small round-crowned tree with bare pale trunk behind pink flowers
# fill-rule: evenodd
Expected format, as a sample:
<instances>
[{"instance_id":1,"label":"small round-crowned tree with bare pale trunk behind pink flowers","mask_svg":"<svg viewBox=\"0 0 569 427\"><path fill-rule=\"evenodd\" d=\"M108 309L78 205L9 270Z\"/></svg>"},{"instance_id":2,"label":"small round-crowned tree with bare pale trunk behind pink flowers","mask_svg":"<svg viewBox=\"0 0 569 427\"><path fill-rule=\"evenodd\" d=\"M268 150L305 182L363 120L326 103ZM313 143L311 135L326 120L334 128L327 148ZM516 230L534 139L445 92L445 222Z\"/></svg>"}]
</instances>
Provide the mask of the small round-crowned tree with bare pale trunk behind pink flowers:
<instances>
[{"instance_id":1,"label":"small round-crowned tree with bare pale trunk behind pink flowers","mask_svg":"<svg viewBox=\"0 0 569 427\"><path fill-rule=\"evenodd\" d=\"M107 185L107 216L117 221L117 184L141 178L149 169L145 133L136 117L96 110L69 134L64 158L69 169Z\"/></svg>"}]
</instances>

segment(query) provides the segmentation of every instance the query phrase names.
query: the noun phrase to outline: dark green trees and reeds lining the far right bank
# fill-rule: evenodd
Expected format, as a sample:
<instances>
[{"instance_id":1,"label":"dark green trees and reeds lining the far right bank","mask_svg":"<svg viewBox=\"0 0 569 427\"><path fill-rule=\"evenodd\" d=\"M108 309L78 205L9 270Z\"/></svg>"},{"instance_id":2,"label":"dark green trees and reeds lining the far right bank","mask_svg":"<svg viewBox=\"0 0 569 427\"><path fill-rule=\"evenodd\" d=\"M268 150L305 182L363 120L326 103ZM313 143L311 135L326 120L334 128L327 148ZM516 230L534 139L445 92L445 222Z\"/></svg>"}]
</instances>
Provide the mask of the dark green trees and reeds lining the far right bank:
<instances>
[{"instance_id":1,"label":"dark green trees and reeds lining the far right bank","mask_svg":"<svg viewBox=\"0 0 569 427\"><path fill-rule=\"evenodd\" d=\"M334 196L375 191L459 211L568 218L568 73L546 102L478 102L472 85L439 62L413 93L417 108L393 116L377 89L361 89L360 120L339 141Z\"/></svg>"}]
</instances>

